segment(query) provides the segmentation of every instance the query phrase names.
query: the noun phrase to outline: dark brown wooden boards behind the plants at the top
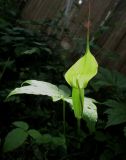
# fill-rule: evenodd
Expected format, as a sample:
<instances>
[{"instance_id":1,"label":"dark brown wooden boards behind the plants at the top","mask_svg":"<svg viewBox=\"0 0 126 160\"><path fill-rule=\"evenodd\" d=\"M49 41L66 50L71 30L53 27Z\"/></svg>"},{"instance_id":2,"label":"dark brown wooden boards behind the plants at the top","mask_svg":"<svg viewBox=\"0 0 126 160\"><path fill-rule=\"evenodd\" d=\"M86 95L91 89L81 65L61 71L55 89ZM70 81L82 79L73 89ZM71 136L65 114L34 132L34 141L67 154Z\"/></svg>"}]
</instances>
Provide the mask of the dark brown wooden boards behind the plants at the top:
<instances>
[{"instance_id":1,"label":"dark brown wooden boards behind the plants at the top","mask_svg":"<svg viewBox=\"0 0 126 160\"><path fill-rule=\"evenodd\" d=\"M29 0L23 9L22 18L41 21L60 17L59 25L62 25L64 17L60 15L66 9L66 3L66 0ZM83 39L86 33L84 23L88 16L88 1L83 0L82 5L72 5L67 16L67 27L73 35L69 41ZM125 17L126 0L91 0L91 42L94 53L100 64L123 73L126 73ZM74 46L73 43L72 45Z\"/></svg>"}]
</instances>

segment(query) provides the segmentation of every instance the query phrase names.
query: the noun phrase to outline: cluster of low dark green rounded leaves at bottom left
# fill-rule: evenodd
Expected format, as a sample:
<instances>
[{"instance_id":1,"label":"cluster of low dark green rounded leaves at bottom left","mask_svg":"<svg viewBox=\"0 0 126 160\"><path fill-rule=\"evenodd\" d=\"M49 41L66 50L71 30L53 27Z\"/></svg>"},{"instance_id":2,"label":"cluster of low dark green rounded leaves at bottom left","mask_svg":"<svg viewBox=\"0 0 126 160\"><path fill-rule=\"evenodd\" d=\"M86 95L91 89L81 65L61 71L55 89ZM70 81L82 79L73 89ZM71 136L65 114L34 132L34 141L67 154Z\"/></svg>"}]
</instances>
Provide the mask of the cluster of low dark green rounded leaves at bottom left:
<instances>
[{"instance_id":1,"label":"cluster of low dark green rounded leaves at bottom left","mask_svg":"<svg viewBox=\"0 0 126 160\"><path fill-rule=\"evenodd\" d=\"M35 140L35 143L38 145L48 144L53 147L63 146L66 148L65 138L63 136L56 137L51 136L51 134L41 134L36 129L28 130L28 124L23 121L13 122L13 125L18 128L11 130L7 134L3 145L4 152L10 152L19 148L25 143L26 140L28 141L29 136Z\"/></svg>"}]
</instances>

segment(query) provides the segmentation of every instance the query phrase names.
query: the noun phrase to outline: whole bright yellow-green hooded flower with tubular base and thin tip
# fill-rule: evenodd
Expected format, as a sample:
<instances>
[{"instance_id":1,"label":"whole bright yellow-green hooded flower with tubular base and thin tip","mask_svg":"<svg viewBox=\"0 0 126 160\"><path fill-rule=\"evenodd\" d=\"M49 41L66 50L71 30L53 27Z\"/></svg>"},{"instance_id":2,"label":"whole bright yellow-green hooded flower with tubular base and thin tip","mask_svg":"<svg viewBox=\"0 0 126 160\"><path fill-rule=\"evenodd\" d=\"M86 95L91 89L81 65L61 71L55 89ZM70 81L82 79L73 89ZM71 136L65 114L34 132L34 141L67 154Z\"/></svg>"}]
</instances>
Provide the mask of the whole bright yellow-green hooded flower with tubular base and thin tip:
<instances>
[{"instance_id":1,"label":"whole bright yellow-green hooded flower with tubular base and thin tip","mask_svg":"<svg viewBox=\"0 0 126 160\"><path fill-rule=\"evenodd\" d=\"M86 53L66 72L65 79L72 87L72 101L74 114L81 119L84 108L84 88L88 82L97 74L98 63L90 52L89 34L87 35Z\"/></svg>"}]
</instances>

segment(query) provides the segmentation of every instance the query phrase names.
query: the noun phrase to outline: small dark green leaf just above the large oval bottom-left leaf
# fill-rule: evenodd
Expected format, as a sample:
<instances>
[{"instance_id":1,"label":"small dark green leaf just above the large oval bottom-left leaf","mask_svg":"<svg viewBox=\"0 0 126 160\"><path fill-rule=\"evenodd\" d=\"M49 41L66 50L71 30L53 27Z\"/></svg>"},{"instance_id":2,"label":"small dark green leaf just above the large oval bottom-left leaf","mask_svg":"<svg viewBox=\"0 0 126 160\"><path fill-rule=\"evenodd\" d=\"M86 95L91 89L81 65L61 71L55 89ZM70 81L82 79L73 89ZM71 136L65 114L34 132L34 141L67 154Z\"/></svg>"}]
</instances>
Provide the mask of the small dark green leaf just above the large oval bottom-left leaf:
<instances>
[{"instance_id":1,"label":"small dark green leaf just above the large oval bottom-left leaf","mask_svg":"<svg viewBox=\"0 0 126 160\"><path fill-rule=\"evenodd\" d=\"M14 126L18 127L18 128L21 128L25 131L28 130L29 128L29 125L26 123L26 122L23 122L23 121L15 121L12 123Z\"/></svg>"}]
</instances>

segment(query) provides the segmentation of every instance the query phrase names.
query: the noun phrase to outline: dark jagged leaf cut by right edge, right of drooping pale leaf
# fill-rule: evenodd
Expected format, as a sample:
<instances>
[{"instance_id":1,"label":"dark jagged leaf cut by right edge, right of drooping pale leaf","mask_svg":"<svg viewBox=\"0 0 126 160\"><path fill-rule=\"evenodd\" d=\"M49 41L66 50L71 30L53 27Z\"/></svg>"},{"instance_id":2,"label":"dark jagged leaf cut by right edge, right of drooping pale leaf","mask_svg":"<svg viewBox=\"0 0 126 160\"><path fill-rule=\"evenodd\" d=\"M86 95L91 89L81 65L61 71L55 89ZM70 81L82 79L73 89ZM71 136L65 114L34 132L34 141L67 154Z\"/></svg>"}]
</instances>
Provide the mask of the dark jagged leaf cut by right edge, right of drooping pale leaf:
<instances>
[{"instance_id":1,"label":"dark jagged leaf cut by right edge, right of drooping pale leaf","mask_svg":"<svg viewBox=\"0 0 126 160\"><path fill-rule=\"evenodd\" d=\"M114 100L108 100L103 104L109 106L110 108L105 111L108 115L108 122L106 127L121 124L126 122L126 105L122 102L117 102Z\"/></svg>"}]
</instances>

